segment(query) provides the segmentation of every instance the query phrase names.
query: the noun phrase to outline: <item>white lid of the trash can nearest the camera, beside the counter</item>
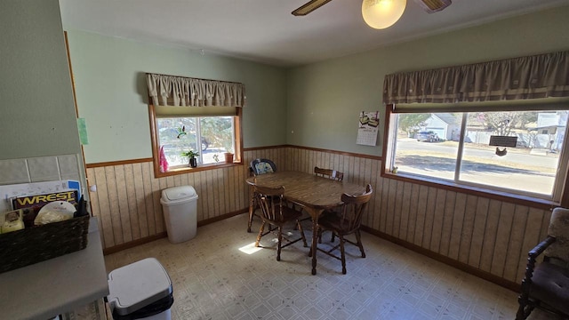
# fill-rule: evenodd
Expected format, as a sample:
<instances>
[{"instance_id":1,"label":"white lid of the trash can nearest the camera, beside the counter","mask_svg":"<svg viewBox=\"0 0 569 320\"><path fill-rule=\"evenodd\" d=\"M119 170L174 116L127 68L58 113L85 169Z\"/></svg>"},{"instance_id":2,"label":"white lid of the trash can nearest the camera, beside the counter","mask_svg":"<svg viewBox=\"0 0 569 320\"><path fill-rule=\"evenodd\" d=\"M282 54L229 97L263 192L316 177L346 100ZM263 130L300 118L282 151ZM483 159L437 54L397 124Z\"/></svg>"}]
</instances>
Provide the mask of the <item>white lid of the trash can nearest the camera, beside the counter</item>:
<instances>
[{"instance_id":1,"label":"white lid of the trash can nearest the camera, beside the counter","mask_svg":"<svg viewBox=\"0 0 569 320\"><path fill-rule=\"evenodd\" d=\"M168 297L172 281L158 260L147 258L111 271L108 292L108 303L125 316Z\"/></svg>"}]
</instances>

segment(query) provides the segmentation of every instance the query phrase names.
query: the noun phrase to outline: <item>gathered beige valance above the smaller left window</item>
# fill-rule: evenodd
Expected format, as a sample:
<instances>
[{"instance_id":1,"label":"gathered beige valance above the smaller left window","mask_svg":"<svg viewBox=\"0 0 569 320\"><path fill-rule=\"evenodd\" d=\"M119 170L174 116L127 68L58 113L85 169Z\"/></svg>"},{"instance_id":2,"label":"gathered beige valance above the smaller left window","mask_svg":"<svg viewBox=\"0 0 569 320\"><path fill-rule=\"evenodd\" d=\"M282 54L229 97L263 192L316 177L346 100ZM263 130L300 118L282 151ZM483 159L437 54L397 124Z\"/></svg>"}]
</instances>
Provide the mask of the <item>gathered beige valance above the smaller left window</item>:
<instances>
[{"instance_id":1,"label":"gathered beige valance above the smaller left window","mask_svg":"<svg viewBox=\"0 0 569 320\"><path fill-rule=\"evenodd\" d=\"M183 76L146 74L148 96L155 106L243 107L245 85Z\"/></svg>"}]
</instances>

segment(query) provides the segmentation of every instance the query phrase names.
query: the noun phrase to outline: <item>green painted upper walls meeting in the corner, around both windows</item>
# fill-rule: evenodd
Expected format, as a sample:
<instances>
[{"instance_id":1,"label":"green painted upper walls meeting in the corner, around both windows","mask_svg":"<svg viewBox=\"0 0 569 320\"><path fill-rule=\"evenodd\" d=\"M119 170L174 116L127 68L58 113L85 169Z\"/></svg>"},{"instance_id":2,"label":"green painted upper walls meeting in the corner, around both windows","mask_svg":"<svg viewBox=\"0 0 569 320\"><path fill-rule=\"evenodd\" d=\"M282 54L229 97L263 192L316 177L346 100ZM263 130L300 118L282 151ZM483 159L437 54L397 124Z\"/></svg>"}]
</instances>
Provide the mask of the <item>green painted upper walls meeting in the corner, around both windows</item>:
<instances>
[{"instance_id":1,"label":"green painted upper walls meeting in the corner, around both windows","mask_svg":"<svg viewBox=\"0 0 569 320\"><path fill-rule=\"evenodd\" d=\"M561 7L288 70L70 29L86 163L152 156L145 72L243 82L245 148L288 143L381 156L383 121L378 145L359 146L357 115L383 115L385 75L568 50L568 15Z\"/></svg>"}]
</instances>

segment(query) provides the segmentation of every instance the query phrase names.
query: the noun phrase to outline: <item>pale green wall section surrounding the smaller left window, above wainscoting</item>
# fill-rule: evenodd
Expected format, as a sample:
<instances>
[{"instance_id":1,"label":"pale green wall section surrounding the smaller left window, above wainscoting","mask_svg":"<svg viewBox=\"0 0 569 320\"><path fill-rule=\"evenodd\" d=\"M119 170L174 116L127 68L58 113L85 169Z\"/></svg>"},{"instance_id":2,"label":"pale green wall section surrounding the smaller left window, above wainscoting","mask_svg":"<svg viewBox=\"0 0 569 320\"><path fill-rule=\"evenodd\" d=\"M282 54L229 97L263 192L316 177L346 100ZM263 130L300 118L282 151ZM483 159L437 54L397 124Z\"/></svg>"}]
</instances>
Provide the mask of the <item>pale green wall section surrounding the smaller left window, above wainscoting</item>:
<instances>
[{"instance_id":1,"label":"pale green wall section surrounding the smaller left window, above wainscoting","mask_svg":"<svg viewBox=\"0 0 569 320\"><path fill-rule=\"evenodd\" d=\"M87 164L152 156L146 72L244 83L244 147L286 143L284 68L74 29L68 42Z\"/></svg>"}]
</instances>

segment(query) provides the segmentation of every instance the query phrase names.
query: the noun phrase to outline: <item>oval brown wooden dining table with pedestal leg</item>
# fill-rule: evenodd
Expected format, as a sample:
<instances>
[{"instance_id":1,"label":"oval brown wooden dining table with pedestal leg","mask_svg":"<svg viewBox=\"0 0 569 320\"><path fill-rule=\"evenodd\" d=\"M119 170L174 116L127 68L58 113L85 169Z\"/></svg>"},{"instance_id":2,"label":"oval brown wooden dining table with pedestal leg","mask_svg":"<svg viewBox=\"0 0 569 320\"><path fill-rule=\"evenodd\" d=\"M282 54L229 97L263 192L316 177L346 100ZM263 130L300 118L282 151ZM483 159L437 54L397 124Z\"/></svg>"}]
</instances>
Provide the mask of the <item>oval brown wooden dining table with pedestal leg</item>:
<instances>
[{"instance_id":1,"label":"oval brown wooden dining table with pedestal leg","mask_svg":"<svg viewBox=\"0 0 569 320\"><path fill-rule=\"evenodd\" d=\"M249 177L246 182L268 188L284 187L284 198L293 204L299 204L309 213L312 220L312 275L317 274L317 223L318 217L326 209L340 206L341 195L363 194L365 186L347 181L336 181L307 172L271 172ZM249 205L249 214L255 209L253 202Z\"/></svg>"}]
</instances>

